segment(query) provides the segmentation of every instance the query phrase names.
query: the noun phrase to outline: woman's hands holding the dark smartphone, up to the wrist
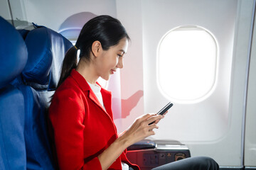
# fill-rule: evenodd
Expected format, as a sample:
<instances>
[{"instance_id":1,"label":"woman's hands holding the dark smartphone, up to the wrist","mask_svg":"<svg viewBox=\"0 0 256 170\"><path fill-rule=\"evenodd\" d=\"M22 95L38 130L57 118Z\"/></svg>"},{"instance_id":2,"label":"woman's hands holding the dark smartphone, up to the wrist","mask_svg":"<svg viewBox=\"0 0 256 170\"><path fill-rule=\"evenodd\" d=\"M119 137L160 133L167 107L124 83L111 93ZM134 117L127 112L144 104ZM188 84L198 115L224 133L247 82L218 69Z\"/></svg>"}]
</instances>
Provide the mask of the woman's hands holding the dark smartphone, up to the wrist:
<instances>
[{"instance_id":1,"label":"woman's hands holding the dark smartphone, up to the wrist","mask_svg":"<svg viewBox=\"0 0 256 170\"><path fill-rule=\"evenodd\" d=\"M148 113L137 118L134 123L126 130L119 138L125 139L124 141L127 147L144 140L144 138L151 135L155 135L154 129L158 129L157 123L164 118L164 115L156 115L154 113ZM152 123L154 122L154 123ZM152 123L149 125L149 123ZM121 139L120 139L121 140Z\"/></svg>"}]
</instances>

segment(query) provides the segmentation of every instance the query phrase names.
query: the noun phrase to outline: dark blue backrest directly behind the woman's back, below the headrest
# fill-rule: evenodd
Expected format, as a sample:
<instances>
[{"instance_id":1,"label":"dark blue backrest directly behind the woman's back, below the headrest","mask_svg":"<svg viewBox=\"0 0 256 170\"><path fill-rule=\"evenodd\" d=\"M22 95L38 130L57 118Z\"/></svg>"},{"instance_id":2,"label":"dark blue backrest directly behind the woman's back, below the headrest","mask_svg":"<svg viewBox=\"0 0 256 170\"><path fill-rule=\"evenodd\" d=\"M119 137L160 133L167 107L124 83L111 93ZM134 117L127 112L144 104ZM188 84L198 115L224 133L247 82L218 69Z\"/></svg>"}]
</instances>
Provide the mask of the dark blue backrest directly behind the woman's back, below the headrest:
<instances>
[{"instance_id":1,"label":"dark blue backrest directly behind the woman's back, below the headrest","mask_svg":"<svg viewBox=\"0 0 256 170\"><path fill-rule=\"evenodd\" d=\"M25 142L27 169L54 169L48 142L46 107L40 93L30 86L18 86L25 98Z\"/></svg>"}]
</instances>

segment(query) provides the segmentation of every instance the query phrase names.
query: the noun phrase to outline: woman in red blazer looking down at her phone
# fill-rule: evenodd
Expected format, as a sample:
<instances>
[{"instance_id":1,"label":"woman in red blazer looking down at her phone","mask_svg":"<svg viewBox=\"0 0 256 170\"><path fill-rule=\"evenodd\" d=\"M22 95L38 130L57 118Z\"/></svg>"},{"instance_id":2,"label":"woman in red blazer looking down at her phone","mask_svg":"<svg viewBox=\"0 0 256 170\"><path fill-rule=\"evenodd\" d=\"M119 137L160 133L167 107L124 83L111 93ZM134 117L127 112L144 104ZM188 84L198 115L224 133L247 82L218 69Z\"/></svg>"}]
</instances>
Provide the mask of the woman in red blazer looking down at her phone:
<instances>
[{"instance_id":1,"label":"woman in red blazer looking down at her phone","mask_svg":"<svg viewBox=\"0 0 256 170\"><path fill-rule=\"evenodd\" d=\"M108 80L122 69L128 42L129 36L117 19L97 16L85 24L75 46L65 55L49 108L60 169L139 169L129 162L124 151L134 142L154 135L156 124L164 116L142 115L118 137L110 91L97 84L99 77ZM210 162L206 166L215 164L212 159L204 159ZM191 162L201 164L193 159ZM169 169L172 165L166 166ZM178 163L176 166L183 169Z\"/></svg>"}]
</instances>

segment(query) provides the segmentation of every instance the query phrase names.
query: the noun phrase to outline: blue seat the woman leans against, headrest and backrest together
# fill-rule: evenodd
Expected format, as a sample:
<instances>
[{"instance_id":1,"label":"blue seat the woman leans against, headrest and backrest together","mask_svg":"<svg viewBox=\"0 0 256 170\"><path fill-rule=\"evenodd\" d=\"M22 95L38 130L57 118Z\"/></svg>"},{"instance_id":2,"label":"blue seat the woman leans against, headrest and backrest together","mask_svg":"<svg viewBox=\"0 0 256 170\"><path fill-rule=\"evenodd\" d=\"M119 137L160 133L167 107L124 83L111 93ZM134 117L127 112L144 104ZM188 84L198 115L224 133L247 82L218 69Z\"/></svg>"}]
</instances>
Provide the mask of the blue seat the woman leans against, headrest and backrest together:
<instances>
[{"instance_id":1,"label":"blue seat the woman leans against, headrest and backrest together","mask_svg":"<svg viewBox=\"0 0 256 170\"><path fill-rule=\"evenodd\" d=\"M47 130L47 109L60 77L65 52L72 43L49 28L36 26L26 35L28 62L22 72L26 98L27 169L56 169Z\"/></svg>"}]
</instances>

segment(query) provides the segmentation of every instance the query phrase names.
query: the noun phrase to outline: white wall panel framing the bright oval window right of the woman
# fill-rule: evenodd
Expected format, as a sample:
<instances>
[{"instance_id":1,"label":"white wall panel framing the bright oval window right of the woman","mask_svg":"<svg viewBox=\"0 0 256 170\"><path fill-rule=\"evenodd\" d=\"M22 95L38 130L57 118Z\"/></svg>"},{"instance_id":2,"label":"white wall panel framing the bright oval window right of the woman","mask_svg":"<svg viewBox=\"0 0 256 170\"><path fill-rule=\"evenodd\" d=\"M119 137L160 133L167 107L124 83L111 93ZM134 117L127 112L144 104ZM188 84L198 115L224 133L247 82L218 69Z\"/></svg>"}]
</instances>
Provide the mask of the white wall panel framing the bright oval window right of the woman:
<instances>
[{"instance_id":1,"label":"white wall panel framing the bright oval window right of the woman","mask_svg":"<svg viewBox=\"0 0 256 170\"><path fill-rule=\"evenodd\" d=\"M149 139L178 140L188 145L192 156L206 155L221 166L242 167L253 2L142 1L145 113L156 112L169 101L156 86L156 49L168 30L203 26L219 45L218 84L213 94L201 103L174 103L156 135Z\"/></svg>"}]
</instances>

